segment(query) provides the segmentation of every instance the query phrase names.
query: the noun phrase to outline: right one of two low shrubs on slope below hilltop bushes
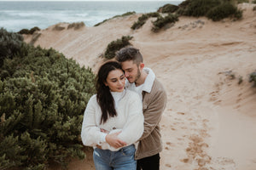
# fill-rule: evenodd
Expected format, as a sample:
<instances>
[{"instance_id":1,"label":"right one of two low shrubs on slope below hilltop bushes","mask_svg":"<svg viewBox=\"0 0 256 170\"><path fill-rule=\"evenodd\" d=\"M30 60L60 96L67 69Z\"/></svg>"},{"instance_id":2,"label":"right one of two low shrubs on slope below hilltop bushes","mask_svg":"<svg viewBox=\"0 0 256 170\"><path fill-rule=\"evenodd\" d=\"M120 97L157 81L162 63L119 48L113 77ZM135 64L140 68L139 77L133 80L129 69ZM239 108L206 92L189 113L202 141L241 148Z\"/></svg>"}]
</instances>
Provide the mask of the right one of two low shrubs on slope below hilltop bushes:
<instances>
[{"instance_id":1,"label":"right one of two low shrubs on slope below hilltop bushes","mask_svg":"<svg viewBox=\"0 0 256 170\"><path fill-rule=\"evenodd\" d=\"M159 31L162 27L170 23L175 23L178 20L177 14L168 14L166 17L159 16L153 22L152 31Z\"/></svg>"}]
</instances>

